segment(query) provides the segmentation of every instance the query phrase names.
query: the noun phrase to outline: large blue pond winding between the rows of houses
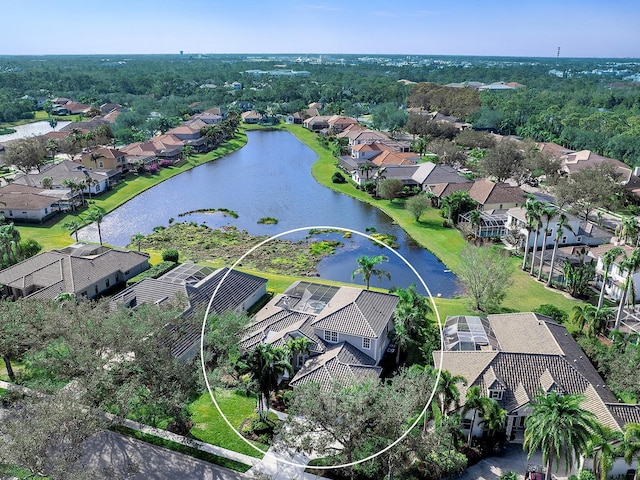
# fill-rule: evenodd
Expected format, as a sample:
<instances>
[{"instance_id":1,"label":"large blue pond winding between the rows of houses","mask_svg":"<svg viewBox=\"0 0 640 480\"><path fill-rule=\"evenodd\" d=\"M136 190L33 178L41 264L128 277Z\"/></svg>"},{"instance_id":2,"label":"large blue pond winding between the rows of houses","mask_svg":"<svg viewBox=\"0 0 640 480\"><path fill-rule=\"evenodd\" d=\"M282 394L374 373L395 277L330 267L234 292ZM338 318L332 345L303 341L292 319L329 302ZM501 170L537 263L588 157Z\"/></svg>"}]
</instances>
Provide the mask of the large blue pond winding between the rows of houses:
<instances>
[{"instance_id":1,"label":"large blue pond winding between the rows of houses","mask_svg":"<svg viewBox=\"0 0 640 480\"><path fill-rule=\"evenodd\" d=\"M143 192L108 214L102 224L105 243L125 246L135 233L148 234L156 226L167 226L169 219L194 221L212 228L235 225L255 235L277 235L301 227L334 226L365 233L372 227L378 233L397 235L396 251L420 273L433 295L451 297L459 290L456 277L429 251L419 247L391 219L375 207L323 187L311 175L317 155L288 132L248 132L242 149L215 162L177 175ZM226 208L238 218L220 213L185 212ZM258 224L263 217L278 219L277 225ZM81 230L80 238L97 241L95 225ZM306 232L289 234L299 239ZM323 234L344 243L337 253L318 266L322 278L350 281L360 255L384 254L389 262L379 268L391 274L391 280L371 284L389 288L407 287L419 280L393 252L371 240L353 235ZM361 277L356 277L358 282ZM422 288L420 288L423 291ZM425 293L423 291L423 293Z\"/></svg>"}]
</instances>

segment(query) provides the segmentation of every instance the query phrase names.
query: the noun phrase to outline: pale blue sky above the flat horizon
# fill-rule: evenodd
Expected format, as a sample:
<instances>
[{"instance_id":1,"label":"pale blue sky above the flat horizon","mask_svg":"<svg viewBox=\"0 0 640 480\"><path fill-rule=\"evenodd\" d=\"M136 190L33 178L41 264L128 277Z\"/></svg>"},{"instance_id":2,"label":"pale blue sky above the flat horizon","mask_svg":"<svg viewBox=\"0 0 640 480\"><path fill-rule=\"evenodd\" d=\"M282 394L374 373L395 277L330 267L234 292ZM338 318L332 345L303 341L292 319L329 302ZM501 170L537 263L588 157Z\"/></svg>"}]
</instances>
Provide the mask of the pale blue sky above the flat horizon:
<instances>
[{"instance_id":1,"label":"pale blue sky above the flat horizon","mask_svg":"<svg viewBox=\"0 0 640 480\"><path fill-rule=\"evenodd\" d=\"M637 0L0 0L0 55L640 57Z\"/></svg>"}]
</instances>

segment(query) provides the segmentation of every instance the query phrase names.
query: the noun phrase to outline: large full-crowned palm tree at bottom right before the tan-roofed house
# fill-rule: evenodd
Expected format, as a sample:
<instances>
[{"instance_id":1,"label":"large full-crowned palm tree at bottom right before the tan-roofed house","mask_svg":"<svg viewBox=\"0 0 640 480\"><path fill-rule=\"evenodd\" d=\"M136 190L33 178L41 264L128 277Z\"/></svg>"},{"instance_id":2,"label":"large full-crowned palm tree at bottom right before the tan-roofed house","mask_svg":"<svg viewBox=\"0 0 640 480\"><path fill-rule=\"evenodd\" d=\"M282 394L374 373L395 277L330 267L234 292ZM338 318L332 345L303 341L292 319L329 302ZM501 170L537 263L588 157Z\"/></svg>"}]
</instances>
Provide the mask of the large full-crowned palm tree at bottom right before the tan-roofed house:
<instances>
[{"instance_id":1,"label":"large full-crowned palm tree at bottom right before the tan-roofed house","mask_svg":"<svg viewBox=\"0 0 640 480\"><path fill-rule=\"evenodd\" d=\"M558 471L562 458L568 472L597 430L595 415L581 406L584 400L581 394L562 395L551 391L536 395L531 402L532 412L525 420L523 448L529 451L528 458L537 450L542 451L547 477L554 461Z\"/></svg>"}]
</instances>

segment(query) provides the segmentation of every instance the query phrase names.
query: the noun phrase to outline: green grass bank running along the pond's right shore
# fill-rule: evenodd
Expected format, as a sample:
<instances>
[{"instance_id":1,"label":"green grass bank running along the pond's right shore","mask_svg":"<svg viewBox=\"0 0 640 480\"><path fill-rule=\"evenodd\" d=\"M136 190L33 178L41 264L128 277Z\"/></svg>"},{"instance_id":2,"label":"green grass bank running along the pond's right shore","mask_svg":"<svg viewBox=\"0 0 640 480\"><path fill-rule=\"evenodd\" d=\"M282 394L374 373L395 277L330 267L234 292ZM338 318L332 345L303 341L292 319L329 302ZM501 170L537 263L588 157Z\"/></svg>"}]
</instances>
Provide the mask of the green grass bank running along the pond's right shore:
<instances>
[{"instance_id":1,"label":"green grass bank running along the pond's right shore","mask_svg":"<svg viewBox=\"0 0 640 480\"><path fill-rule=\"evenodd\" d=\"M320 146L317 141L317 134L312 133L299 125L284 125L283 129L293 133L300 141L305 143L318 154L318 160L313 164L311 172L316 180L322 185L335 191L357 198L376 206L400 225L411 238L418 244L427 248L436 255L454 273L460 268L460 252L465 245L465 240L456 229L443 227L443 219L440 211L430 208L421 217L420 221L415 219L404 209L402 200L375 200L367 193L357 190L352 183L335 184L331 182L331 176L339 171L336 167L336 159L328 150ZM502 303L504 311L531 311L541 304L550 303L558 308L570 312L571 309L581 302L565 296L562 292L546 288L542 283L537 282L519 268L522 260L514 257L514 273L512 284L507 290L507 297ZM460 315L471 313L468 300L438 299L436 301L440 316L444 320L446 315Z\"/></svg>"}]
</instances>

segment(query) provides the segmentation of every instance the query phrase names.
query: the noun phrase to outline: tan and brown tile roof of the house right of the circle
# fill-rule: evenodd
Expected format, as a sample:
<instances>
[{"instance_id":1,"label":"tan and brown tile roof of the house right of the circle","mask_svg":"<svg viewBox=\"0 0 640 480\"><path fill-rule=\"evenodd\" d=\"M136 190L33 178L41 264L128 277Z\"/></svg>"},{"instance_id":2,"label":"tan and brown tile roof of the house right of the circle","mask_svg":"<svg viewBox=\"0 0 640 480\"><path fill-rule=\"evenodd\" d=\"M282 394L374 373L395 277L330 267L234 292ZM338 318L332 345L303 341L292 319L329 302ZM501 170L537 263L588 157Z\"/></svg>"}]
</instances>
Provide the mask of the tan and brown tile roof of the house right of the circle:
<instances>
[{"instance_id":1,"label":"tan and brown tile roof of the house right of the circle","mask_svg":"<svg viewBox=\"0 0 640 480\"><path fill-rule=\"evenodd\" d=\"M500 405L513 412L537 394L555 389L580 393L584 407L598 421L621 430L624 422L638 415L637 410L617 407L615 396L590 363L566 328L548 317L534 313L489 315L500 350L445 351L442 368L464 376L467 389L478 385L487 394L489 388L504 387ZM434 352L438 359L440 352Z\"/></svg>"}]
</instances>

